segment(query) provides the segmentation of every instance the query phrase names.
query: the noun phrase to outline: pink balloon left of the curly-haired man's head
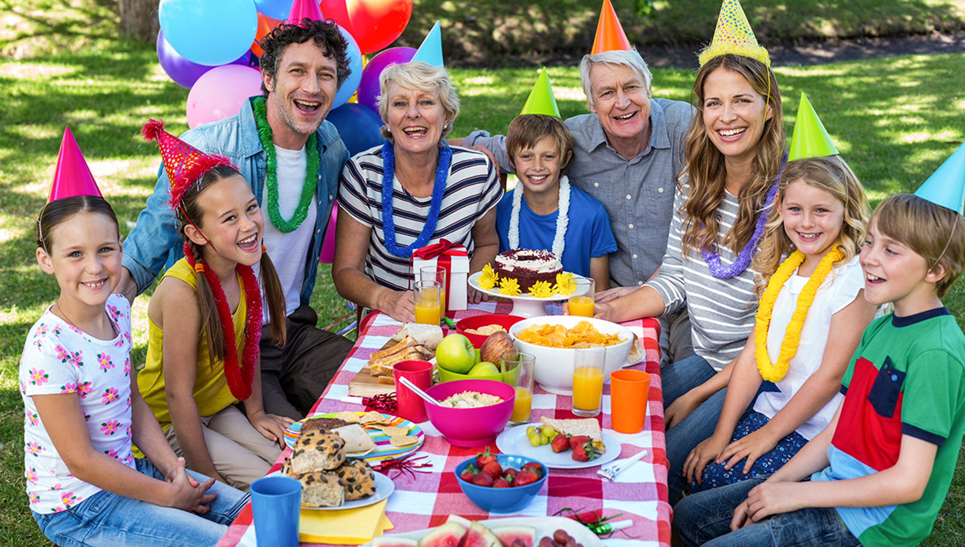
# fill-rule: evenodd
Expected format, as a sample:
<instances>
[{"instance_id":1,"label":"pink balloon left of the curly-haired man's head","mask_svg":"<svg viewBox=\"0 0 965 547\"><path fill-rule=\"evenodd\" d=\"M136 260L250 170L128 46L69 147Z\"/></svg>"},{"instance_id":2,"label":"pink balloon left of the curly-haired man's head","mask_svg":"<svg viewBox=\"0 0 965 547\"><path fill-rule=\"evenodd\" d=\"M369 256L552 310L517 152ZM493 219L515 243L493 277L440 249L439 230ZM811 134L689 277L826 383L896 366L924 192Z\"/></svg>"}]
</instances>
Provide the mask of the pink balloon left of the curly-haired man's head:
<instances>
[{"instance_id":1,"label":"pink balloon left of the curly-haired man's head","mask_svg":"<svg viewBox=\"0 0 965 547\"><path fill-rule=\"evenodd\" d=\"M187 94L188 127L234 116L249 96L256 95L262 95L259 70L238 65L211 68Z\"/></svg>"}]
</instances>

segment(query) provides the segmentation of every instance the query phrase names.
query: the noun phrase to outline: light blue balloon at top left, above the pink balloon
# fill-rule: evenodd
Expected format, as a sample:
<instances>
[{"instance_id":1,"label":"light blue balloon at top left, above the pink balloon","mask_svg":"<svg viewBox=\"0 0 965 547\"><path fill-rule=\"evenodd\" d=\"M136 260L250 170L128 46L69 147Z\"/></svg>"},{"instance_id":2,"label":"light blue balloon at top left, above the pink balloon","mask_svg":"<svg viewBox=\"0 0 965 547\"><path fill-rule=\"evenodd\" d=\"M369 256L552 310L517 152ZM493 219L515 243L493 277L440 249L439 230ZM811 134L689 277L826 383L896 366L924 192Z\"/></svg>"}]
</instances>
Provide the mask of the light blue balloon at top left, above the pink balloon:
<instances>
[{"instance_id":1,"label":"light blue balloon at top left, above the pink balloon","mask_svg":"<svg viewBox=\"0 0 965 547\"><path fill-rule=\"evenodd\" d=\"M243 55L258 29L252 0L160 0L157 15L181 57L211 67Z\"/></svg>"}]
</instances>

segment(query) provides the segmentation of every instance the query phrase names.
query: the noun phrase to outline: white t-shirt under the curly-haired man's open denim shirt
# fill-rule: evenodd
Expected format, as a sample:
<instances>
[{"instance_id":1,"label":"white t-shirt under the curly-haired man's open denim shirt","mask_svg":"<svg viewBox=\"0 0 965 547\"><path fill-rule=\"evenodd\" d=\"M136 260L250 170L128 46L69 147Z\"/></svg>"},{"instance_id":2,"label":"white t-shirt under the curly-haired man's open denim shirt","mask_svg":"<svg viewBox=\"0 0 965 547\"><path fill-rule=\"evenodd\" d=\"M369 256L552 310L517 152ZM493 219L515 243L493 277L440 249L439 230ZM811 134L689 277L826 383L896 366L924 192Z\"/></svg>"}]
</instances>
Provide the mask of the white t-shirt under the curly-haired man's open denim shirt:
<instances>
[{"instance_id":1,"label":"white t-shirt under the curly-haired man's open denim shirt","mask_svg":"<svg viewBox=\"0 0 965 547\"><path fill-rule=\"evenodd\" d=\"M282 218L290 220L298 208L302 187L305 184L306 155L305 147L301 150L288 150L275 147L275 157L278 158L278 211ZM313 188L316 187L312 181ZM271 222L268 214L268 184L265 181L262 188L262 215L264 216L264 246L268 249L268 256L275 269L278 279L285 291L285 308L289 315L301 305L301 289L305 282L305 260L308 257L309 246L312 245L312 234L315 232L317 212L317 192L312 193L312 202L308 207L305 220L293 232L282 232ZM317 257L316 257L316 260ZM255 273L260 273L256 265ZM263 294L263 290L262 290ZM262 307L264 324L270 320L268 306Z\"/></svg>"}]
</instances>

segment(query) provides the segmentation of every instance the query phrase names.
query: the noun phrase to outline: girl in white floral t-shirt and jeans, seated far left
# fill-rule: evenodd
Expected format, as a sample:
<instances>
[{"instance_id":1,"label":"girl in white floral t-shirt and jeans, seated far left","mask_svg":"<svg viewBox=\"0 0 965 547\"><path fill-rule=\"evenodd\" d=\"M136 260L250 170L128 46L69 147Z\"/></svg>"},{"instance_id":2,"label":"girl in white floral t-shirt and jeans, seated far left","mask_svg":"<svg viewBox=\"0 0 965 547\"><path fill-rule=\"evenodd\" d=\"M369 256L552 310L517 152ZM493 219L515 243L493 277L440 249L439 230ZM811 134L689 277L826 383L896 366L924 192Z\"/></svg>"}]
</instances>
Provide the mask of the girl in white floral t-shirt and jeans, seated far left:
<instances>
[{"instance_id":1,"label":"girl in white floral t-shirt and jeans, seated far left","mask_svg":"<svg viewBox=\"0 0 965 547\"><path fill-rule=\"evenodd\" d=\"M130 306L112 294L121 236L99 196L47 204L37 260L60 285L24 343L24 475L59 545L214 545L247 495L184 470L132 389ZM134 458L131 443L146 458Z\"/></svg>"}]
</instances>

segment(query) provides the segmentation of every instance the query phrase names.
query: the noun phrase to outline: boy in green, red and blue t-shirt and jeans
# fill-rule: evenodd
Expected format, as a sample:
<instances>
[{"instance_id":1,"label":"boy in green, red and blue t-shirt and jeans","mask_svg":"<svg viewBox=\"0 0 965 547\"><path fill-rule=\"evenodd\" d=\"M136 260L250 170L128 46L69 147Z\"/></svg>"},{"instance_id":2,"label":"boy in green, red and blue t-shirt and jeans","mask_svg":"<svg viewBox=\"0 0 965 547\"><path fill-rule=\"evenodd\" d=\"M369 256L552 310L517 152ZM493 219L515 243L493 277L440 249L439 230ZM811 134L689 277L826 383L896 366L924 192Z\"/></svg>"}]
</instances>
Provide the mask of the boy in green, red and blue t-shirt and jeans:
<instances>
[{"instance_id":1,"label":"boy in green, red and blue t-shirt and jeans","mask_svg":"<svg viewBox=\"0 0 965 547\"><path fill-rule=\"evenodd\" d=\"M684 543L910 547L931 533L965 429L965 336L940 300L963 263L958 212L910 194L875 209L865 298L895 312L865 329L837 414L769 479L681 501Z\"/></svg>"}]
</instances>

